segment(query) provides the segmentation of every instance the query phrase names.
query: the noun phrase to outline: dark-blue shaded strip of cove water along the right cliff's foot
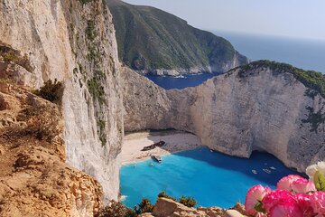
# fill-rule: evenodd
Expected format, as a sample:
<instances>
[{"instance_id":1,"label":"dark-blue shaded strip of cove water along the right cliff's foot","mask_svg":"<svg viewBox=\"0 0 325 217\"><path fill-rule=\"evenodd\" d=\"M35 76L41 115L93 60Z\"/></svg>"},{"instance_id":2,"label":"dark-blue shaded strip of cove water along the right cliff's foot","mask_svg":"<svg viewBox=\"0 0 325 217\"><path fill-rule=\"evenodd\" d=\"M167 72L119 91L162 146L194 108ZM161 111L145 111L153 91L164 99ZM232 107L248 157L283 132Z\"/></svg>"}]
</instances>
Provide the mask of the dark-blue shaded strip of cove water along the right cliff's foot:
<instances>
[{"instance_id":1,"label":"dark-blue shaded strip of cove water along the right cliff's foot","mask_svg":"<svg viewBox=\"0 0 325 217\"><path fill-rule=\"evenodd\" d=\"M209 165L238 172L247 176L254 176L258 181L269 184L276 184L284 175L294 174L302 175L287 168L275 156L265 152L255 151L249 159L227 156L207 147L197 148L195 150L183 151L173 154L174 156L190 157L197 161L204 161ZM271 168L272 167L272 168ZM252 171L255 170L256 174ZM268 174L266 171L271 171Z\"/></svg>"}]
</instances>

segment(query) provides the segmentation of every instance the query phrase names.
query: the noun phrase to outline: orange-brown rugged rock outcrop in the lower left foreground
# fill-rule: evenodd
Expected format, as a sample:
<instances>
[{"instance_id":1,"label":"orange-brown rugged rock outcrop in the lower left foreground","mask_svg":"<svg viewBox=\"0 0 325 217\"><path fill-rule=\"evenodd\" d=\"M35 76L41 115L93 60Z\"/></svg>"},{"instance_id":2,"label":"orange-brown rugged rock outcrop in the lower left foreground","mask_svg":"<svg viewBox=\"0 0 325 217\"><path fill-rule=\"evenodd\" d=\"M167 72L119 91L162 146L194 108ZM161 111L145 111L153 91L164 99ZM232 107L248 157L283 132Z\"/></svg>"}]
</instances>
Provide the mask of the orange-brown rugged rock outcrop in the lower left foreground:
<instances>
[{"instance_id":1,"label":"orange-brown rugged rock outcrop in the lower left foreground","mask_svg":"<svg viewBox=\"0 0 325 217\"><path fill-rule=\"evenodd\" d=\"M8 80L0 87L0 216L93 216L102 188L65 163L60 108Z\"/></svg>"}]
</instances>

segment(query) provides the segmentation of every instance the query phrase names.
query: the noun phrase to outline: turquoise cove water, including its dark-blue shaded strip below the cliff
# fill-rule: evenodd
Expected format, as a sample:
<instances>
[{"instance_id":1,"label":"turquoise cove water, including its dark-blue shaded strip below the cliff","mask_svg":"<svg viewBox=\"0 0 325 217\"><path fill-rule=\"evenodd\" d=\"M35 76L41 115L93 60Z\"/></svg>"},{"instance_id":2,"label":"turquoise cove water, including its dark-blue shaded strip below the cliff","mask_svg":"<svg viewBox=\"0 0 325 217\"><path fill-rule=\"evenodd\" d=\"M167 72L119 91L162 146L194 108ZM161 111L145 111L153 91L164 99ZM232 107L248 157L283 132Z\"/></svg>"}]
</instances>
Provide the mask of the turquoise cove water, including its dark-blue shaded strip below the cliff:
<instances>
[{"instance_id":1,"label":"turquoise cove water, including its dark-blue shaded strip below the cliff","mask_svg":"<svg viewBox=\"0 0 325 217\"><path fill-rule=\"evenodd\" d=\"M271 166L276 170L266 174L263 168ZM155 203L158 193L166 191L178 198L192 196L202 206L228 208L239 199L244 202L249 187L264 184L274 188L284 175L296 174L269 154L255 152L244 159L210 152L205 147L163 156L163 164L148 160L124 165L120 172L121 193L126 196L123 203L128 207L134 207L143 197Z\"/></svg>"}]
</instances>

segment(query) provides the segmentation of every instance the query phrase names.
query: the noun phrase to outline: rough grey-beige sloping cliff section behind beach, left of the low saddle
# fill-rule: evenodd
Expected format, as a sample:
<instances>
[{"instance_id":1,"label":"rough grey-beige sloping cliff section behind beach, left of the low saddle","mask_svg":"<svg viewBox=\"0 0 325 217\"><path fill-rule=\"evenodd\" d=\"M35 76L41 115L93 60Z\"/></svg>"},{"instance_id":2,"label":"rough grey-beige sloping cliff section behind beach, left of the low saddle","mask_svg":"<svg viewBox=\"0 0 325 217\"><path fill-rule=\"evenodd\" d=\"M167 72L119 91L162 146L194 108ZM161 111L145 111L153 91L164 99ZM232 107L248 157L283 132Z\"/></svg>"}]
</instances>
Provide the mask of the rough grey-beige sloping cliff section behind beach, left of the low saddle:
<instances>
[{"instance_id":1,"label":"rough grey-beige sloping cliff section behind beach, left of the low saddle","mask_svg":"<svg viewBox=\"0 0 325 217\"><path fill-rule=\"evenodd\" d=\"M168 128L170 123L166 116L172 109L172 102L166 91L126 67L122 79L125 131Z\"/></svg>"}]
</instances>

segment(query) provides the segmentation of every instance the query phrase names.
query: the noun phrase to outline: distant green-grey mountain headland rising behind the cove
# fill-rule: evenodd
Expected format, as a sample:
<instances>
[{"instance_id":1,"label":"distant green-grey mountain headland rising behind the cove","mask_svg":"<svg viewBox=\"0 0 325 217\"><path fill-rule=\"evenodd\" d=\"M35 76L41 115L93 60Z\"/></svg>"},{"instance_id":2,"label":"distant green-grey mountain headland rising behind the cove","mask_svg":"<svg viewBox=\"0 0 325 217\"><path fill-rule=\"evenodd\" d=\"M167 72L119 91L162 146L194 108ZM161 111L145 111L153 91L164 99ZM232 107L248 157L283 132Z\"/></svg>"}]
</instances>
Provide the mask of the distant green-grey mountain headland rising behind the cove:
<instances>
[{"instance_id":1,"label":"distant green-grey mountain headland rising behind the cove","mask_svg":"<svg viewBox=\"0 0 325 217\"><path fill-rule=\"evenodd\" d=\"M226 39L149 7L107 0L116 26L119 59L141 73L224 72L247 63Z\"/></svg>"}]
</instances>

